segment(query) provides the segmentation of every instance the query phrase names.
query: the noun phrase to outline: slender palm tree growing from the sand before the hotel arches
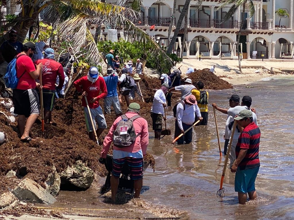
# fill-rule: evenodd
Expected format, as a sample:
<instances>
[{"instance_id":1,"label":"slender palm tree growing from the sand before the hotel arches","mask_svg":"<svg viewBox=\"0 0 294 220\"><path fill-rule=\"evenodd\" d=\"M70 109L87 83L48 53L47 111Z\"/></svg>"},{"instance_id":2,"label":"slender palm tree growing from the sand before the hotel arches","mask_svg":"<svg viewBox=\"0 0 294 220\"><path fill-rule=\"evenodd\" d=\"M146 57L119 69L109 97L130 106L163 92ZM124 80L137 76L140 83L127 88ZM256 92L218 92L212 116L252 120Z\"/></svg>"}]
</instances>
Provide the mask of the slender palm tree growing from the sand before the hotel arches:
<instances>
[{"instance_id":1,"label":"slender palm tree growing from the sand before the hotel arches","mask_svg":"<svg viewBox=\"0 0 294 220\"><path fill-rule=\"evenodd\" d=\"M239 7L243 7L243 16L242 16L242 21L240 24L240 29L238 33L238 40L237 40L237 52L238 52L238 62L239 62L239 71L242 72L241 69L241 60L240 60L240 50L239 50L239 43L240 43L240 37L241 37L241 30L243 27L243 22L245 20L245 7L246 4L248 5L248 10L249 10L249 18L251 18L254 15L255 9L253 5L252 0L220 0L220 9L224 8L225 6L232 5L229 9L229 11L226 13L225 17L223 18L224 20L229 20L232 18L234 13L238 10Z\"/></svg>"}]
</instances>

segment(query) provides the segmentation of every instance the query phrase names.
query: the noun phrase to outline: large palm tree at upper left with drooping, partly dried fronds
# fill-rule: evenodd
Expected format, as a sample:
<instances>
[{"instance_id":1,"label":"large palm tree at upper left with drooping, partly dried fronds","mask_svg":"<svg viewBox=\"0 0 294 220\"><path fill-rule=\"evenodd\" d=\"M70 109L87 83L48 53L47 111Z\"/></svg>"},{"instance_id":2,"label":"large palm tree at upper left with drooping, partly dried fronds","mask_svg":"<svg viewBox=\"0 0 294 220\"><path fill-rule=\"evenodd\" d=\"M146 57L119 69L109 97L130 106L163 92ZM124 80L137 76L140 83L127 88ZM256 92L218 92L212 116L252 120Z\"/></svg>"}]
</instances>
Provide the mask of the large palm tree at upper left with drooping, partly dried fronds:
<instances>
[{"instance_id":1,"label":"large palm tree at upper left with drooping, partly dried fronds","mask_svg":"<svg viewBox=\"0 0 294 220\"><path fill-rule=\"evenodd\" d=\"M134 1L133 1L134 2ZM132 6L138 6L138 0ZM22 0L21 13L10 23L18 31L18 40L23 42L29 28L38 22L39 13L46 9L48 18L59 30L59 35L71 42L73 53L81 48L87 48L85 59L90 63L98 64L100 55L93 36L90 33L91 24L108 23L116 27L124 25L124 31L131 35L131 39L139 41L148 48L152 48L151 55L162 56L165 65L173 65L170 57L161 47L143 30L134 25L140 16L133 9L123 6L107 4L100 0ZM6 37L4 35L4 37ZM5 40L0 38L0 44Z\"/></svg>"}]
</instances>

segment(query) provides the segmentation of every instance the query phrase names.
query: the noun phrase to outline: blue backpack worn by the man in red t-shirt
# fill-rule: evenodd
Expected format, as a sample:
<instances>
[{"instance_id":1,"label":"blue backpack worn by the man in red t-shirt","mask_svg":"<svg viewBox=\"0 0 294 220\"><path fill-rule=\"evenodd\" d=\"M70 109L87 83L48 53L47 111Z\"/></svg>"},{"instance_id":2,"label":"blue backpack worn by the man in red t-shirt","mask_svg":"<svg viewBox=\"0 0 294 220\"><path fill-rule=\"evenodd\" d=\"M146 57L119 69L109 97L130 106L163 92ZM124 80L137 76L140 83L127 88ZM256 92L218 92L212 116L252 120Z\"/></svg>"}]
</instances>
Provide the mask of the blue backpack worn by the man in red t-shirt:
<instances>
[{"instance_id":1,"label":"blue backpack worn by the man in red t-shirt","mask_svg":"<svg viewBox=\"0 0 294 220\"><path fill-rule=\"evenodd\" d=\"M17 84L19 82L19 79L25 74L26 71L24 71L23 74L19 78L17 78L16 75L16 60L17 58L21 57L24 54L19 55L18 57L14 57L13 60L8 64L6 69L6 74L3 77L5 81L5 86L7 88L16 89Z\"/></svg>"}]
</instances>

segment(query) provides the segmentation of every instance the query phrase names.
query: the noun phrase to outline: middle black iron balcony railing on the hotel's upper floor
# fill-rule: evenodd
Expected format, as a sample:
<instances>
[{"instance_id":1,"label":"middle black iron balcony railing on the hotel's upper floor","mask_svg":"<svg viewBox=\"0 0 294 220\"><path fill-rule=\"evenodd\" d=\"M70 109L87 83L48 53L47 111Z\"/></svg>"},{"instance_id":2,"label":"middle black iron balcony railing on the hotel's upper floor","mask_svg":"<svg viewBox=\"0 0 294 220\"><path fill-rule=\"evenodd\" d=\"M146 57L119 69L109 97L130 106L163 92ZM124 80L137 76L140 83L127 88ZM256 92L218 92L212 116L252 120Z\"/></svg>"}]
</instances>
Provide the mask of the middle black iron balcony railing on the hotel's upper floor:
<instances>
[{"instance_id":1,"label":"middle black iron balcony railing on the hotel's upper floor","mask_svg":"<svg viewBox=\"0 0 294 220\"><path fill-rule=\"evenodd\" d=\"M236 29L239 28L237 20L219 20L219 19L199 19L190 18L190 27L192 28L225 28Z\"/></svg>"}]
</instances>

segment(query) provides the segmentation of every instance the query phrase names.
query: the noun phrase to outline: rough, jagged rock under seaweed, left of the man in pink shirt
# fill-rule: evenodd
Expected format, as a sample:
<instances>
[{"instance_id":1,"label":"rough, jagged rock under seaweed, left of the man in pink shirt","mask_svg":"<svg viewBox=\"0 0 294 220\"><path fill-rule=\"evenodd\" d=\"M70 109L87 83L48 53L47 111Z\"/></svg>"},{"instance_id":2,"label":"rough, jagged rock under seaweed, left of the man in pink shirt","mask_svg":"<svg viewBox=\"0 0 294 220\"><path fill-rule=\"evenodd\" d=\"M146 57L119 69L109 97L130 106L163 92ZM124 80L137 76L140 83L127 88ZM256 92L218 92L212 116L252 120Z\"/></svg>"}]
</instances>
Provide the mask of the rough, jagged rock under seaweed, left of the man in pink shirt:
<instances>
[{"instance_id":1,"label":"rough, jagged rock under seaweed, left of the man in pink shirt","mask_svg":"<svg viewBox=\"0 0 294 220\"><path fill-rule=\"evenodd\" d=\"M93 170L84 165L81 160L78 160L76 164L71 167L67 167L66 170L59 173L59 175L61 185L72 184L82 189L88 189L94 180Z\"/></svg>"}]
</instances>

